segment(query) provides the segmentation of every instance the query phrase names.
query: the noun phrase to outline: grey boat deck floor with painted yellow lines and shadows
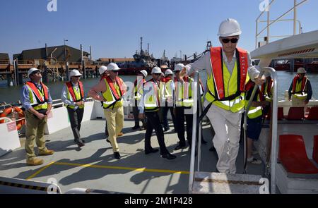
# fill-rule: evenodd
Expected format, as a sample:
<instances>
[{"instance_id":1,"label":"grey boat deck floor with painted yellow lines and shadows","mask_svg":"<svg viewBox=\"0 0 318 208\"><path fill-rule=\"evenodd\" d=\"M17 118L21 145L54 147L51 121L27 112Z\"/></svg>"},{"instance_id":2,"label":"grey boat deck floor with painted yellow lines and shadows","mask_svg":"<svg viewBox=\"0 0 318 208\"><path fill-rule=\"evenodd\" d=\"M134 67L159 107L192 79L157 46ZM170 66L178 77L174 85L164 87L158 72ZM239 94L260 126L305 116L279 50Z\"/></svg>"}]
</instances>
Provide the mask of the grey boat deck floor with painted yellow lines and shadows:
<instances>
[{"instance_id":1,"label":"grey boat deck floor with painted yellow lines and shadows","mask_svg":"<svg viewBox=\"0 0 318 208\"><path fill-rule=\"evenodd\" d=\"M188 192L189 147L174 151L177 134L170 130L165 133L165 143L177 159L167 160L159 152L145 155L143 137L145 130L132 131L134 121L125 121L124 135L117 139L122 159L114 159L112 147L105 141L105 120L97 119L82 123L81 136L86 145L79 149L73 142L71 128L65 128L52 135L45 135L47 147L53 149L52 156L41 157L41 166L25 165L24 140L21 147L0 157L0 175L33 181L50 182L54 178L62 192L71 188L92 188L126 193L175 193ZM204 126L204 139L208 142L201 148L201 171L216 171L216 153L210 152L210 125ZM155 133L152 146L158 147ZM237 157L237 173L243 172L243 151ZM264 164L249 164L248 174L264 175Z\"/></svg>"}]
</instances>

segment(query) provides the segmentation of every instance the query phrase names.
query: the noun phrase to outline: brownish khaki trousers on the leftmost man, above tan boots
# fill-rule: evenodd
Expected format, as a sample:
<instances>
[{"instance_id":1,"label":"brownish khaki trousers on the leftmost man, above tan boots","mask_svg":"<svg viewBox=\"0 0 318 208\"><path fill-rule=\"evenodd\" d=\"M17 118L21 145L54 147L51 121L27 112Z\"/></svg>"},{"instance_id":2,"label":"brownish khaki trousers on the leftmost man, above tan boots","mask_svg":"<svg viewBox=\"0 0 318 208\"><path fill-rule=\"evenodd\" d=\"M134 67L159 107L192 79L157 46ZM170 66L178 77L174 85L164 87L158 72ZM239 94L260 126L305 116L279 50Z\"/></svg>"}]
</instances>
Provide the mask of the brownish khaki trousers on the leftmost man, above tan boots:
<instances>
[{"instance_id":1,"label":"brownish khaki trousers on the leftmost man, above tan boots","mask_svg":"<svg viewBox=\"0 0 318 208\"><path fill-rule=\"evenodd\" d=\"M47 147L45 147L44 137L44 128L45 124L47 124L47 116L40 120L37 118L37 116L31 114L29 111L25 111L25 121L25 152L27 153L26 159L29 160L35 157L34 140L37 144L39 152L45 151L47 149Z\"/></svg>"}]
</instances>

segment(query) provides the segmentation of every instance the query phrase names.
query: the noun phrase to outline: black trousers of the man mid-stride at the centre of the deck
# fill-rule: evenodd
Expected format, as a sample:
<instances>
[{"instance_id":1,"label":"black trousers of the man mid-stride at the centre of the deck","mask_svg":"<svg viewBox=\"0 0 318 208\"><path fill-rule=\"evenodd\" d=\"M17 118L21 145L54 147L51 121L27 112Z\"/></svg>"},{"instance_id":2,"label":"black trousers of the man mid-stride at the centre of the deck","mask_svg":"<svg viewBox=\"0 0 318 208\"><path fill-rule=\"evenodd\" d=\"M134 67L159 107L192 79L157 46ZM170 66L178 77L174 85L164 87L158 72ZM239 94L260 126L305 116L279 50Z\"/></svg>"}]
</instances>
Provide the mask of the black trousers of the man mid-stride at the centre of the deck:
<instances>
[{"instance_id":1,"label":"black trousers of the man mid-stride at the centre of the deck","mask_svg":"<svg viewBox=\"0 0 318 208\"><path fill-rule=\"evenodd\" d=\"M163 128L160 125L160 119L158 112L145 112L147 117L147 129L145 135L145 151L150 150L151 147L151 135L153 129L155 129L155 134L157 135L158 143L160 146L160 154L167 154L167 147L165 147L165 137L163 135Z\"/></svg>"}]
</instances>

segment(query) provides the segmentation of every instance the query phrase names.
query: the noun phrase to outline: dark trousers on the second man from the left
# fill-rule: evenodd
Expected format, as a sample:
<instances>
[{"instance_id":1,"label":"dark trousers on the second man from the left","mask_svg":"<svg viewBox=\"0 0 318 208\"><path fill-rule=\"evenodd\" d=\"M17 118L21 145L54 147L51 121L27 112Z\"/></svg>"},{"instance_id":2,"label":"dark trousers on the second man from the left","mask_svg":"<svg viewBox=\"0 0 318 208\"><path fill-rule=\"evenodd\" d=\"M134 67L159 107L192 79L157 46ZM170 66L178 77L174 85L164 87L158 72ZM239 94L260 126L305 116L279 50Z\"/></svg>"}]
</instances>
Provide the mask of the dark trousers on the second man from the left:
<instances>
[{"instance_id":1,"label":"dark trousers on the second man from the left","mask_svg":"<svg viewBox=\"0 0 318 208\"><path fill-rule=\"evenodd\" d=\"M73 131L74 139L76 142L81 140L80 130L81 130L81 123L83 120L84 109L73 109L67 108L67 112L69 113L69 121L71 122L71 129Z\"/></svg>"}]
</instances>

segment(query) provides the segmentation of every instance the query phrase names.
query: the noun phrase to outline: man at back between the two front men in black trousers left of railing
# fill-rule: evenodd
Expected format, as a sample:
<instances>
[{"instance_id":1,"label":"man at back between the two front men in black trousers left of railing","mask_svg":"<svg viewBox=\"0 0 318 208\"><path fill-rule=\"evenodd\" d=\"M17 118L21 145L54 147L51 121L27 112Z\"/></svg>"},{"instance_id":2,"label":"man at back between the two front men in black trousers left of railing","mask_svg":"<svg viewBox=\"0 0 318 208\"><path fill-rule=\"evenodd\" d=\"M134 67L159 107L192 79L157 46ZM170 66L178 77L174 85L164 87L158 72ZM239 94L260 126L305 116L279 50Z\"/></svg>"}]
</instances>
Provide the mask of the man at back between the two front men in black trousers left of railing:
<instances>
[{"instance_id":1,"label":"man at back between the two front men in black trousers left of railing","mask_svg":"<svg viewBox=\"0 0 318 208\"><path fill-rule=\"evenodd\" d=\"M165 101L164 102L165 106L163 106L163 128L165 131L170 130L169 124L167 122L167 112L170 110L173 126L175 128L175 132L177 132L175 113L173 111L174 109L173 97L175 96L175 82L173 82L172 76L173 76L172 71L170 69L167 69L165 71L165 78L163 78L162 80L163 99Z\"/></svg>"}]
</instances>

